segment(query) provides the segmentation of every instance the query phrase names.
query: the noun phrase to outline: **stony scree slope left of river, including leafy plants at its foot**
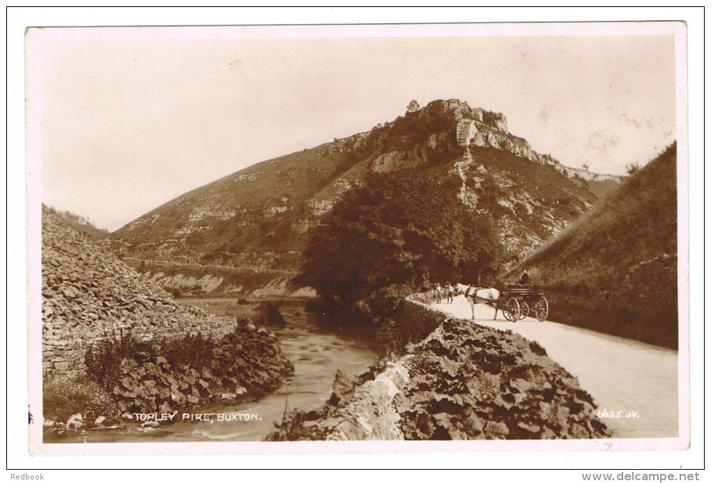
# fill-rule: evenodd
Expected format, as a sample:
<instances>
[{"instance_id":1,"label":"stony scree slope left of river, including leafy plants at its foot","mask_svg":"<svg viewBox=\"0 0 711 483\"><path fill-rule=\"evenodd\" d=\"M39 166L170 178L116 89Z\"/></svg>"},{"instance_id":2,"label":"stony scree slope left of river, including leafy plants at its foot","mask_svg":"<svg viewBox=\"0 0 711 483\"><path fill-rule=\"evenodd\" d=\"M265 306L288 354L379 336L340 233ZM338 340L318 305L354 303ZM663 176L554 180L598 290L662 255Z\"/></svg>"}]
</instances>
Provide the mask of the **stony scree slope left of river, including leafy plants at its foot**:
<instances>
[{"instance_id":1,"label":"stony scree slope left of river, including leafy plants at its foot","mask_svg":"<svg viewBox=\"0 0 711 483\"><path fill-rule=\"evenodd\" d=\"M257 396L277 389L292 371L264 327L176 304L47 207L41 294L45 418L48 411L58 417L67 411L62 406L76 402L57 403L48 388L66 394L95 381L117 411L151 412L204 404L223 394Z\"/></svg>"}]
</instances>

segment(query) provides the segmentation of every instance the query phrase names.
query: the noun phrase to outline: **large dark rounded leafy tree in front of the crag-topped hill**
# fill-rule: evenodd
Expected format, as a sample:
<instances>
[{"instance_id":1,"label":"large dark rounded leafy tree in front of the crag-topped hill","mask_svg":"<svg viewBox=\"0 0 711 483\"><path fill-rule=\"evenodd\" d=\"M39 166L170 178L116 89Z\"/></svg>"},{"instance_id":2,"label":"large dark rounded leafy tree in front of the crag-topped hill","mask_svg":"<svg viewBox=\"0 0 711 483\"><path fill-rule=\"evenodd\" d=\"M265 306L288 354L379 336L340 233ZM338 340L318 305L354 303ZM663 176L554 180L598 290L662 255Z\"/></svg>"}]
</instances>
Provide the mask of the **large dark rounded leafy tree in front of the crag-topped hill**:
<instances>
[{"instance_id":1,"label":"large dark rounded leafy tree in front of the crag-topped hill","mask_svg":"<svg viewBox=\"0 0 711 483\"><path fill-rule=\"evenodd\" d=\"M433 180L371 174L314 229L294 279L337 317L377 322L404 295L471 280L496 259L488 219ZM341 320L341 323L343 320Z\"/></svg>"}]
</instances>

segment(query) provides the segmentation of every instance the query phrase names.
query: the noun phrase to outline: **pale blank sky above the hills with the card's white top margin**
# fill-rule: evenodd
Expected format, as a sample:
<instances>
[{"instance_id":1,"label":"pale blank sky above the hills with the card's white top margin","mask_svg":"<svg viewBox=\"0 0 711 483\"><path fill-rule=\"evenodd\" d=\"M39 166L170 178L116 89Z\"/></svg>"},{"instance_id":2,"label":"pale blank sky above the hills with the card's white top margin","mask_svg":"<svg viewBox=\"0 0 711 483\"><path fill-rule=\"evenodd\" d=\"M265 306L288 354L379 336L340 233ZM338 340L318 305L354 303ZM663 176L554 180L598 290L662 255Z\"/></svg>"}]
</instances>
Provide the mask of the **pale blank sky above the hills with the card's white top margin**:
<instances>
[{"instance_id":1,"label":"pale blank sky above the hills with the card's white top margin","mask_svg":"<svg viewBox=\"0 0 711 483\"><path fill-rule=\"evenodd\" d=\"M632 23L31 29L28 146L43 202L109 230L254 163L392 121L411 99L501 112L535 151L624 174L677 137L672 34L682 32Z\"/></svg>"}]
</instances>

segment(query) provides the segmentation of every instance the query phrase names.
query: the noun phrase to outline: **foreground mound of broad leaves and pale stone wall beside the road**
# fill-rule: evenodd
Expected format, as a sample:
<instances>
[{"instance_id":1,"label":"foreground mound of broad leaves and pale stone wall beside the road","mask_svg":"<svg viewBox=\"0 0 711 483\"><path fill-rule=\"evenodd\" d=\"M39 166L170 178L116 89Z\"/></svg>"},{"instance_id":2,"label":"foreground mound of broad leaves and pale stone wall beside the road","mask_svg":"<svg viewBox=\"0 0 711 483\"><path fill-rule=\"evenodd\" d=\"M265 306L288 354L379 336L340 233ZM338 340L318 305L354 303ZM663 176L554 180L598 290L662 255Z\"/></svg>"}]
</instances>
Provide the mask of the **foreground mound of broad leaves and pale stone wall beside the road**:
<instances>
[{"instance_id":1,"label":"foreground mound of broad leaves and pale stone wall beside the road","mask_svg":"<svg viewBox=\"0 0 711 483\"><path fill-rule=\"evenodd\" d=\"M592 396L547 357L545 349L510 331L468 320L447 318L424 340L410 344L404 356L383 362L354 381L336 379L326 406L292 414L272 439L516 440L609 435L594 415Z\"/></svg>"}]
</instances>

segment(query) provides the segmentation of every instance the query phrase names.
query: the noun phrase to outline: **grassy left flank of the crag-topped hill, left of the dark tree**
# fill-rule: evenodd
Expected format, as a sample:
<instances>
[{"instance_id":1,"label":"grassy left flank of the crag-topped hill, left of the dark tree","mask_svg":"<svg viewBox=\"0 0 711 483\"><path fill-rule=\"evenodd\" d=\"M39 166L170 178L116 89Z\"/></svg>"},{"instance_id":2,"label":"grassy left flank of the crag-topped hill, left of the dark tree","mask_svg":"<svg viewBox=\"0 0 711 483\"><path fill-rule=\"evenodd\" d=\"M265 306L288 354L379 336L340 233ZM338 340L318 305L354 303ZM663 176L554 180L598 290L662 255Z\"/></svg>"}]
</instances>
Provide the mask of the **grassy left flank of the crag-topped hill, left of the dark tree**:
<instances>
[{"instance_id":1,"label":"grassy left flank of the crag-topped hill, left of the dark tree","mask_svg":"<svg viewBox=\"0 0 711 483\"><path fill-rule=\"evenodd\" d=\"M437 109L411 113L369 134L258 163L157 207L109 235L109 243L139 259L296 270L308 236L294 226L321 218L307 200L337 201L344 185L370 171L375 156L414 148L442 129L453 137L453 123ZM191 221L201 210L211 214Z\"/></svg>"}]
</instances>

